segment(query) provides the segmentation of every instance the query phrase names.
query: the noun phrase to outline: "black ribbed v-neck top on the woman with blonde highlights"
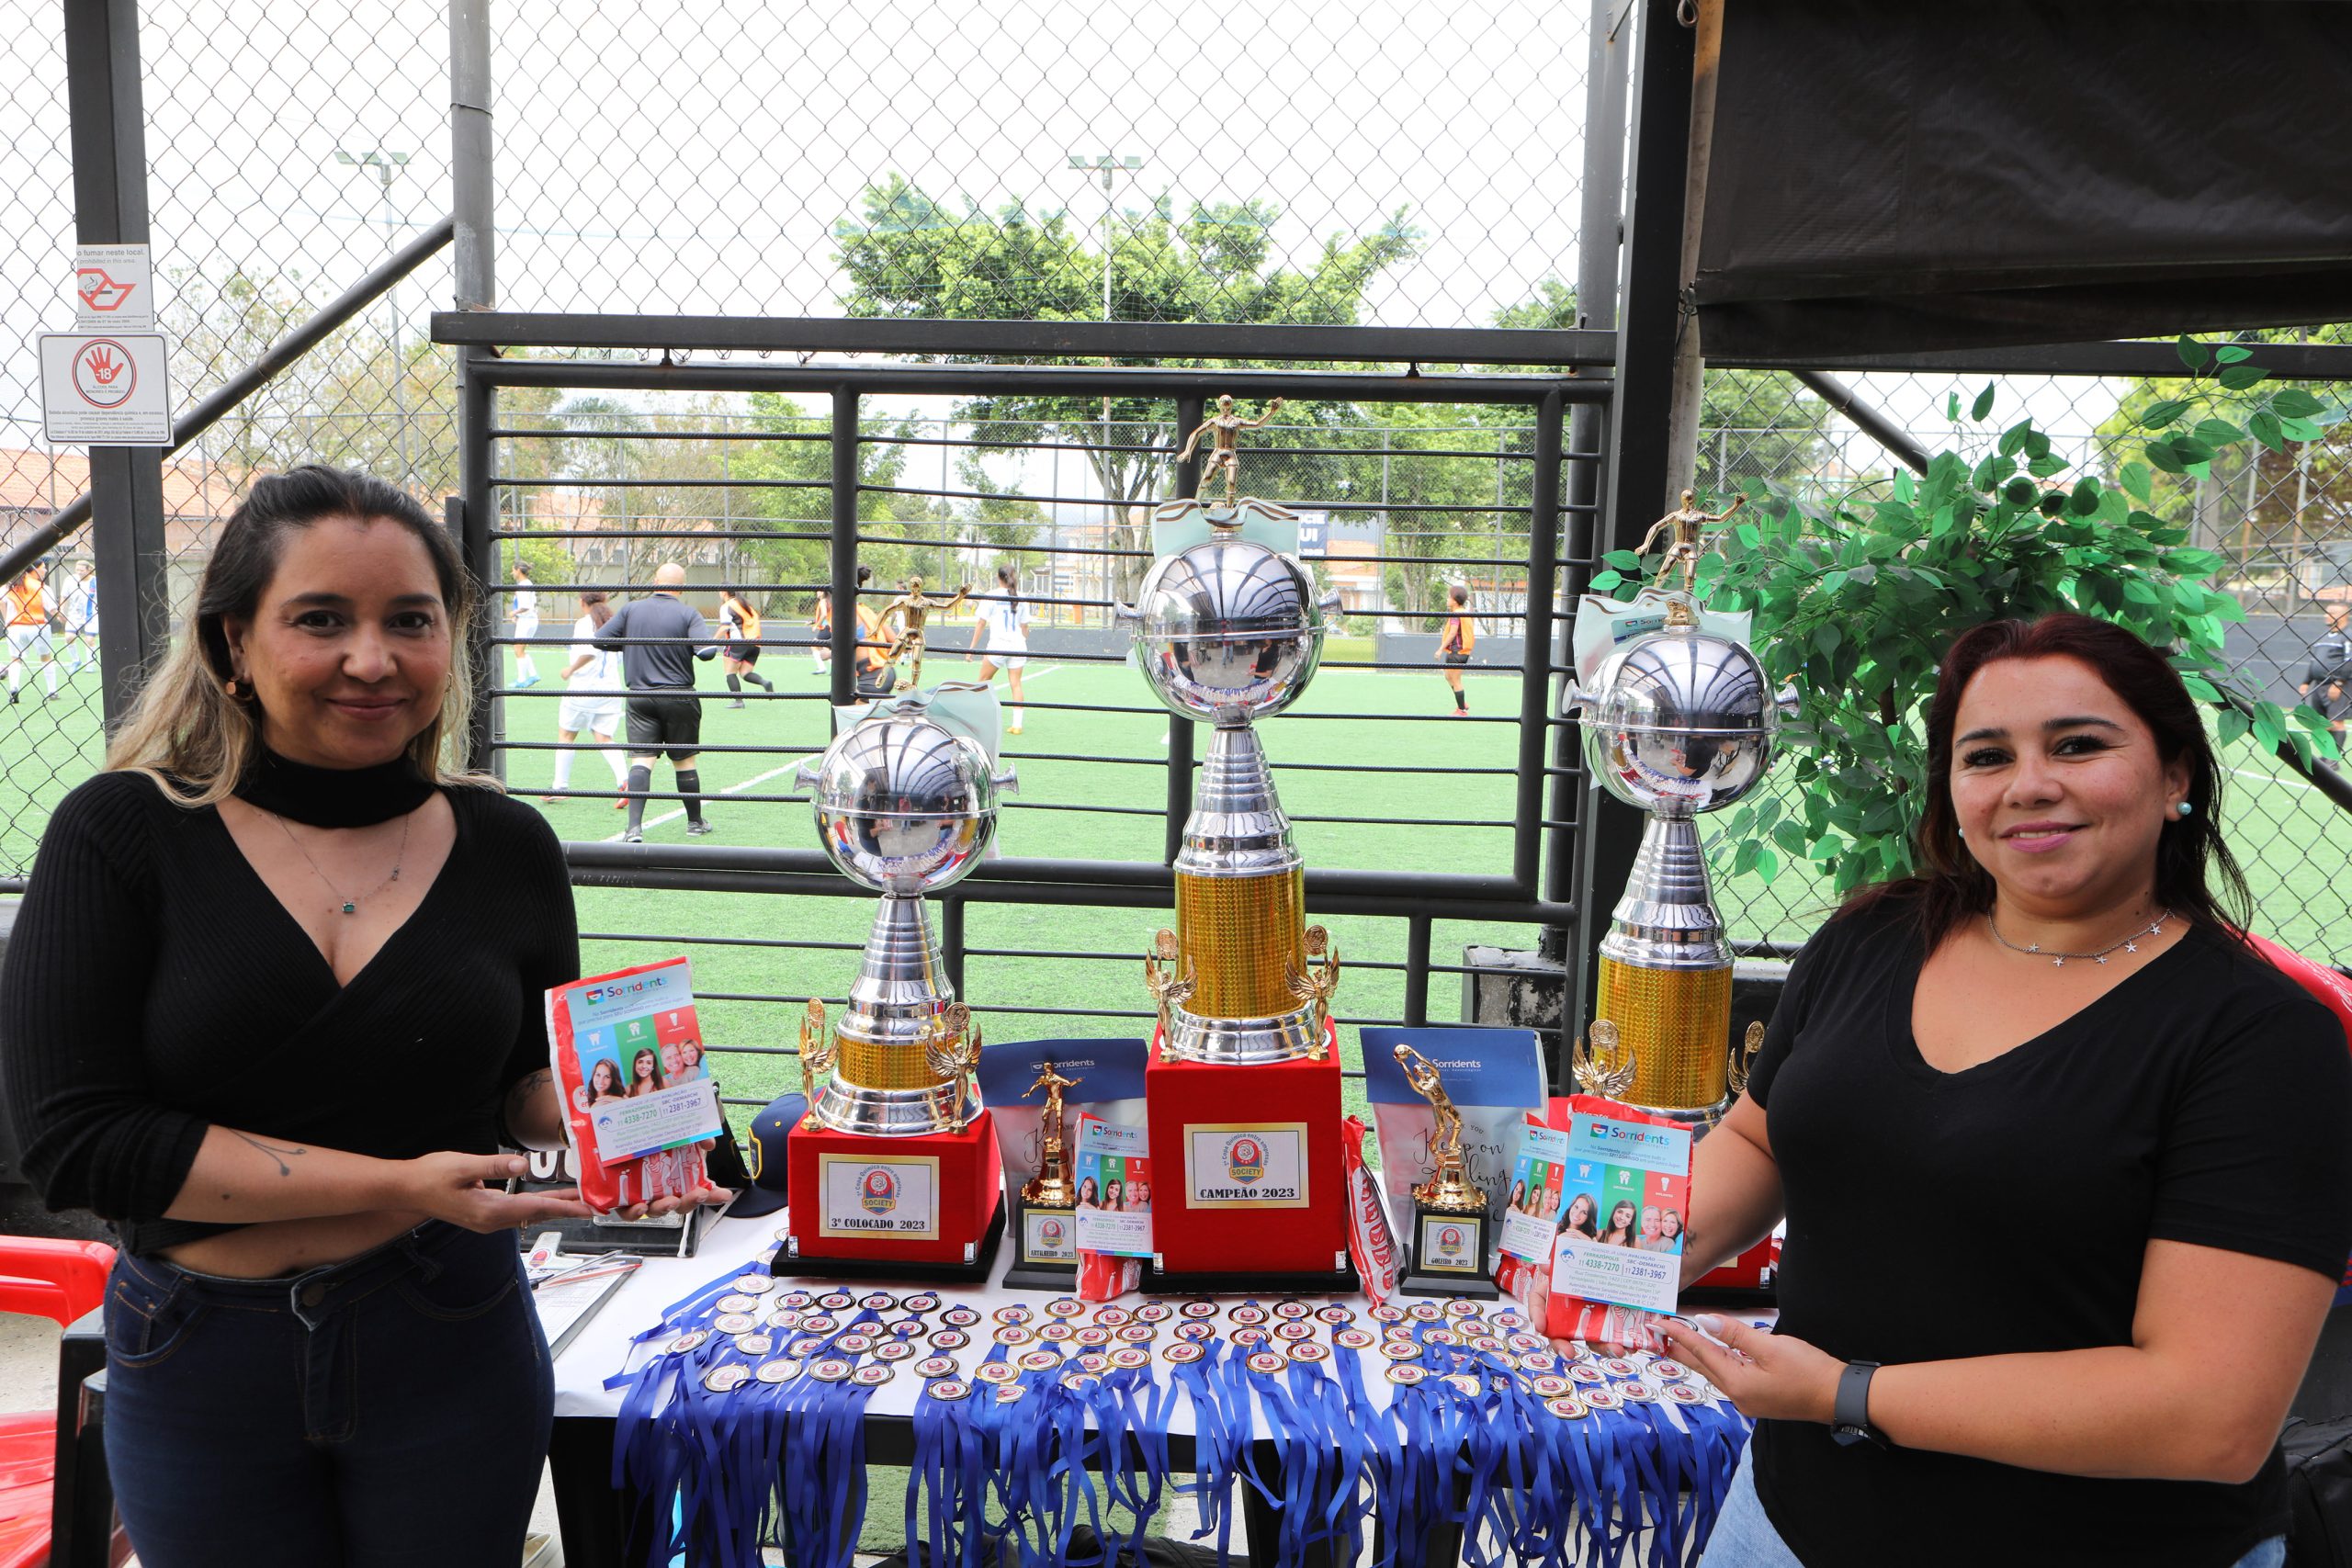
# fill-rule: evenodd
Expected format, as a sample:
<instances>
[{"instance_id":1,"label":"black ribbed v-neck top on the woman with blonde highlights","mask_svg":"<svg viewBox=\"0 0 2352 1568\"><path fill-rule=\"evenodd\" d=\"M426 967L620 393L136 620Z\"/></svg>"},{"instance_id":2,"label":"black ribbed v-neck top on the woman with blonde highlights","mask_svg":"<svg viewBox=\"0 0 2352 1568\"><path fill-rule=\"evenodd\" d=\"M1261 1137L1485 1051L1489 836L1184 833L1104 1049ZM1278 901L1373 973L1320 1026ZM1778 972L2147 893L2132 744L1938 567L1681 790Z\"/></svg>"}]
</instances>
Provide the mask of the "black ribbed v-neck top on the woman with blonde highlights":
<instances>
[{"instance_id":1,"label":"black ribbed v-neck top on the woman with blonde highlights","mask_svg":"<svg viewBox=\"0 0 2352 1568\"><path fill-rule=\"evenodd\" d=\"M99 773L56 806L0 966L0 1074L49 1208L132 1253L235 1229L165 1220L212 1124L414 1159L499 1147L548 1065L550 985L579 978L555 832L447 788L456 842L416 912L339 985L214 806Z\"/></svg>"}]
</instances>

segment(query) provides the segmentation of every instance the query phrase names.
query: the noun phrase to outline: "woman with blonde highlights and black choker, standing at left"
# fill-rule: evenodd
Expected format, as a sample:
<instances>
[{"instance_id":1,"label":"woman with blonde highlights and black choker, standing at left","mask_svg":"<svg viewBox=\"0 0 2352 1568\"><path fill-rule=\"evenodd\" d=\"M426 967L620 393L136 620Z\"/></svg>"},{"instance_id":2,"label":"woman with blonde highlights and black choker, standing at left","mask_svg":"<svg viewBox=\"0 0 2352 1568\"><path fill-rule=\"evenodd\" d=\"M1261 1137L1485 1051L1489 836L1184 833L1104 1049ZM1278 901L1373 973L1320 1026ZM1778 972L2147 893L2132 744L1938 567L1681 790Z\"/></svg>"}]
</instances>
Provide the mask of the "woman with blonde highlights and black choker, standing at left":
<instances>
[{"instance_id":1,"label":"woman with blonde highlights and black choker, standing at left","mask_svg":"<svg viewBox=\"0 0 2352 1568\"><path fill-rule=\"evenodd\" d=\"M42 837L0 1070L26 1175L120 1237L106 1455L148 1568L520 1556L553 1385L513 1232L586 1208L506 1192L501 1145L562 1138L541 994L579 933L555 835L452 755L470 614L405 491L256 480Z\"/></svg>"}]
</instances>

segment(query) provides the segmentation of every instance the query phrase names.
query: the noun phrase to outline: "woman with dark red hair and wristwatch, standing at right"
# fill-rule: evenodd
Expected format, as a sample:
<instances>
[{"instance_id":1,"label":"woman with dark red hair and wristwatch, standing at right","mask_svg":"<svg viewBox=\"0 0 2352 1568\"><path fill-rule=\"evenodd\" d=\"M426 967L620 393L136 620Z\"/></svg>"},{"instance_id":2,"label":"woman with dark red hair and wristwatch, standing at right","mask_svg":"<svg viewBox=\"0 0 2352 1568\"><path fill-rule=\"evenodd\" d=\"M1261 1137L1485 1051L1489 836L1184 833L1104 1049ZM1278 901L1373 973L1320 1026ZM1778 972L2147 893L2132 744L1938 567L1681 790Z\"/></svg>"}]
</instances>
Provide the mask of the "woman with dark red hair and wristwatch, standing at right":
<instances>
[{"instance_id":1,"label":"woman with dark red hair and wristwatch, standing at right","mask_svg":"<svg viewBox=\"0 0 2352 1568\"><path fill-rule=\"evenodd\" d=\"M2352 1058L2239 938L2197 703L2103 621L1983 625L1922 788L1693 1157L1684 1281L1788 1218L1773 1333L1668 1333L1757 1418L1708 1568L2274 1566Z\"/></svg>"}]
</instances>

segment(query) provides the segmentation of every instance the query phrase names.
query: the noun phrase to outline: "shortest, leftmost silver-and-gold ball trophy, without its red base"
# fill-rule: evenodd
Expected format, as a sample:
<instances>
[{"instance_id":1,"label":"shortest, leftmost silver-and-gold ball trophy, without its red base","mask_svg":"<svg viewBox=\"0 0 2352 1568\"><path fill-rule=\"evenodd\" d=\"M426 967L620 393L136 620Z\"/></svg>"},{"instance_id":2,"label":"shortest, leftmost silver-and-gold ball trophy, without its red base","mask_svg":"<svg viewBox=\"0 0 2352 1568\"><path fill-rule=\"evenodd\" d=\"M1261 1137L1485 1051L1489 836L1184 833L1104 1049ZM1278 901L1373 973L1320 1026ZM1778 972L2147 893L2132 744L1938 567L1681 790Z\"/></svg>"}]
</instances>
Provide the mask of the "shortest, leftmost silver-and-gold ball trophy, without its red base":
<instances>
[{"instance_id":1,"label":"shortest, leftmost silver-and-gold ball trophy, without its red base","mask_svg":"<svg viewBox=\"0 0 2352 1568\"><path fill-rule=\"evenodd\" d=\"M981 1034L955 1001L924 893L960 882L997 830L997 790L1014 788L978 741L927 712L929 693L887 698L800 764L826 856L882 893L849 1011L826 1041L823 1004L802 1025L809 1114L842 1133L960 1133ZM826 1077L823 1088L816 1086Z\"/></svg>"}]
</instances>

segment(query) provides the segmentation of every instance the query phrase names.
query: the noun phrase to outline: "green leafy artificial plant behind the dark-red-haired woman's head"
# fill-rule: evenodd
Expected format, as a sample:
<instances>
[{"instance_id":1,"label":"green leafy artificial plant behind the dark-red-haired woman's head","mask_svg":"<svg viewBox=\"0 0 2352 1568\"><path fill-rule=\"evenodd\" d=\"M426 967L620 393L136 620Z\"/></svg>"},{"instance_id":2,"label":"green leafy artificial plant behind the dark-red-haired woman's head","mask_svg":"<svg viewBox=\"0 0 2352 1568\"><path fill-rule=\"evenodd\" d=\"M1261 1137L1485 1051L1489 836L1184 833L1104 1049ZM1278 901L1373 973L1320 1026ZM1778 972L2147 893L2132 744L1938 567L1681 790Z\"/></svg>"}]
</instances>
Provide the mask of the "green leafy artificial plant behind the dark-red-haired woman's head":
<instances>
[{"instance_id":1,"label":"green leafy artificial plant behind the dark-red-haired woman's head","mask_svg":"<svg viewBox=\"0 0 2352 1568\"><path fill-rule=\"evenodd\" d=\"M1926 703L1936 661L1983 621L2056 609L2117 621L2166 649L2190 691L2220 708L2220 741L2293 748L2310 769L2333 757L2326 719L2284 710L2239 686L2220 661L2237 599L2204 578L2223 567L2190 548L2190 531L2147 510L2154 473L2204 477L2218 451L2310 442L2343 407L2303 388L2253 395L2267 371L2237 343L2180 339L2187 395L2152 404L2143 456L2112 484L2072 473L2051 437L2023 418L1978 461L1938 454L1924 475L1877 480L1830 503L1773 482L1748 482L1748 508L1698 564L1712 609L1755 616L1757 656L1790 684L1797 717L1783 724L1778 790L1729 813L1717 842L1731 875L1771 882L1783 865L1818 863L1842 896L1905 877L1926 799ZM2249 404L2249 395L2253 395ZM1987 383L1969 411L1992 411ZM1959 418L1959 397L1950 416ZM1644 571L1613 550L1595 592Z\"/></svg>"}]
</instances>

